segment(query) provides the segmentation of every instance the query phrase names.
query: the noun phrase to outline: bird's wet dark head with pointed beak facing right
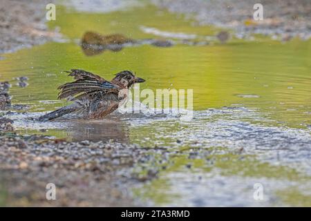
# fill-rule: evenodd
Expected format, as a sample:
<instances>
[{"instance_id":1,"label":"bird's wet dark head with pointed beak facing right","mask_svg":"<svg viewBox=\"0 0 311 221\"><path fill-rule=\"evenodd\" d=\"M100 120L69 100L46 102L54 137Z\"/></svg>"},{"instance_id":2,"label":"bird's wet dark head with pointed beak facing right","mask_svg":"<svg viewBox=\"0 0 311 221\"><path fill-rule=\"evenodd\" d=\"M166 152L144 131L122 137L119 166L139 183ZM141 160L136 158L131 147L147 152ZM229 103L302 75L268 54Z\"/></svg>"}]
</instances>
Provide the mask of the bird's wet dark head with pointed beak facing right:
<instances>
[{"instance_id":1,"label":"bird's wet dark head with pointed beak facing right","mask_svg":"<svg viewBox=\"0 0 311 221\"><path fill-rule=\"evenodd\" d=\"M135 77L133 73L129 70L122 70L120 73L117 73L112 79L114 84L122 86L124 88L130 88L135 83L142 83L145 80L140 77Z\"/></svg>"}]
</instances>

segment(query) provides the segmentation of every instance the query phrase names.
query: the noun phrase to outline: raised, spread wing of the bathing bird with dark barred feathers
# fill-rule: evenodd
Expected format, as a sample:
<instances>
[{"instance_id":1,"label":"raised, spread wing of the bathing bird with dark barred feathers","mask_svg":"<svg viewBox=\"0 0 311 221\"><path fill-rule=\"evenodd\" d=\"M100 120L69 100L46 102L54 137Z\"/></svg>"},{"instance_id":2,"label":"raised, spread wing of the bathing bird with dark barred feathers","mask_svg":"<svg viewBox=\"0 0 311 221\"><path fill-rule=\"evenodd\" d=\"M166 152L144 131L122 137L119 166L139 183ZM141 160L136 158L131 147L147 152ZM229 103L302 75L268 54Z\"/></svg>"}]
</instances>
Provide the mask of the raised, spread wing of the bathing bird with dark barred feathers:
<instances>
[{"instance_id":1,"label":"raised, spread wing of the bathing bird with dark barred feathers","mask_svg":"<svg viewBox=\"0 0 311 221\"><path fill-rule=\"evenodd\" d=\"M58 87L60 90L58 99L80 99L86 95L118 93L117 86L93 73L78 69L72 69L66 73L76 80Z\"/></svg>"}]
</instances>

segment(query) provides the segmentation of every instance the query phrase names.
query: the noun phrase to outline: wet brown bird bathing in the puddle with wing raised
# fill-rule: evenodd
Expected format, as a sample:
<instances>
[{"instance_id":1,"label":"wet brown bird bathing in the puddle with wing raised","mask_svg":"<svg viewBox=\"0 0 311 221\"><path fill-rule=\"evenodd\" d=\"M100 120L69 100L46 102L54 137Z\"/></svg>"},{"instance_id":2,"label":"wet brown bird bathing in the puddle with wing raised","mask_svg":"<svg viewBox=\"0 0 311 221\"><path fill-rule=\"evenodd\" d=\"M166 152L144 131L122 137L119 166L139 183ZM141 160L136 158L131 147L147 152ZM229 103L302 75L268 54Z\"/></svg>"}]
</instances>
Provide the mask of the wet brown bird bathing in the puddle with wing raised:
<instances>
[{"instance_id":1,"label":"wet brown bird bathing in the puddle with wing raised","mask_svg":"<svg viewBox=\"0 0 311 221\"><path fill-rule=\"evenodd\" d=\"M135 77L129 70L117 73L111 81L85 70L66 71L75 81L59 86L58 99L73 101L73 104L59 108L39 117L48 121L64 115L75 115L86 119L98 119L109 115L126 99L126 92L135 83L145 80Z\"/></svg>"}]
</instances>

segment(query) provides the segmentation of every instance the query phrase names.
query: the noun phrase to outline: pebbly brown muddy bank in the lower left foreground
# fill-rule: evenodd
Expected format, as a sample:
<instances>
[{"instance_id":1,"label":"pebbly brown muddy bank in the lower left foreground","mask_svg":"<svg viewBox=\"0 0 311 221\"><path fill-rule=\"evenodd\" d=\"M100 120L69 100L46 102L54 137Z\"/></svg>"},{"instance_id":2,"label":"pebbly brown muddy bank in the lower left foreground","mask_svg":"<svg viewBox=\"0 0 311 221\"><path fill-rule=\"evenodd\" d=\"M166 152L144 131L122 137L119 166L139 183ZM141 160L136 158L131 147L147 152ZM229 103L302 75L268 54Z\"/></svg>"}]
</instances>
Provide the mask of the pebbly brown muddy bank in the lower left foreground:
<instances>
[{"instance_id":1,"label":"pebbly brown muddy bank in the lower left foreground","mask_svg":"<svg viewBox=\"0 0 311 221\"><path fill-rule=\"evenodd\" d=\"M131 167L147 151L137 146L15 133L2 133L0 146L1 201L6 206L138 205L129 193L140 182ZM48 183L55 184L57 200L46 200Z\"/></svg>"}]
</instances>

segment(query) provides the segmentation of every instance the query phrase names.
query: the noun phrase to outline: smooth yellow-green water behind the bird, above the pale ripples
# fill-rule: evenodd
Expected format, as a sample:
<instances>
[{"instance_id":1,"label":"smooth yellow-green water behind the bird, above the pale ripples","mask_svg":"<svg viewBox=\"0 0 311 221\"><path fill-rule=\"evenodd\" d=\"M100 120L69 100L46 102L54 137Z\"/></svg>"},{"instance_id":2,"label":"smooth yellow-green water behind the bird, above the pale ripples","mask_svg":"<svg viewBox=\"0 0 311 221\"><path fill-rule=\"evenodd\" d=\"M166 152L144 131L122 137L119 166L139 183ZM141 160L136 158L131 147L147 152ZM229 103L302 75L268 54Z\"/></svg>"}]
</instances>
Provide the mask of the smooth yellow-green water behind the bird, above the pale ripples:
<instances>
[{"instance_id":1,"label":"smooth yellow-green water behind the bird, above the pale ripples","mask_svg":"<svg viewBox=\"0 0 311 221\"><path fill-rule=\"evenodd\" d=\"M176 15L159 13L152 7L135 8L135 13L128 10L109 14L59 10L50 27L60 27L69 41L80 39L87 30L102 35L122 33L133 39L157 38L142 32L141 25L199 36L216 33L216 28L194 27L176 19ZM286 44L269 39L250 42L233 39L224 45L217 42L211 46L171 48L144 45L86 57L77 44L48 43L3 55L6 59L1 61L0 71L3 80L21 75L30 77L28 88L12 88L14 102L35 104L46 110L54 106L39 101L57 99L57 86L70 80L60 73L62 70L83 68L111 79L117 71L129 69L147 79L142 89L194 89L195 110L241 104L268 111L274 119L290 126L306 126L310 125L311 111L310 48L311 41L298 39Z\"/></svg>"}]
</instances>

